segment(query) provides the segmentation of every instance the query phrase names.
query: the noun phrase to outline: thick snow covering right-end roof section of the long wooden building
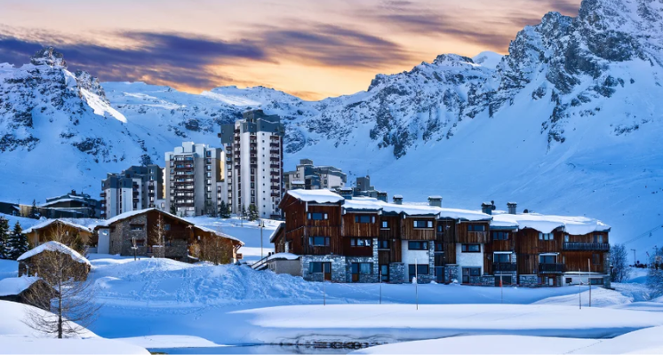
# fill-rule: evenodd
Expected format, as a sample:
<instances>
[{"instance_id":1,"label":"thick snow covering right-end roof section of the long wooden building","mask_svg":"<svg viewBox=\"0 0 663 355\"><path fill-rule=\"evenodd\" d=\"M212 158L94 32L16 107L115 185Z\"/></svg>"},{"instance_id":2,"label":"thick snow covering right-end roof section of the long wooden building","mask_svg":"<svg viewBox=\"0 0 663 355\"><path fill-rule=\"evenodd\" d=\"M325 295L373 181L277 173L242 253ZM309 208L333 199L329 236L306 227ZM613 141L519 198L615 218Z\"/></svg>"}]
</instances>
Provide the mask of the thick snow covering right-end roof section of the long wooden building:
<instances>
[{"instance_id":1,"label":"thick snow covering right-end roof section of the long wooden building","mask_svg":"<svg viewBox=\"0 0 663 355\"><path fill-rule=\"evenodd\" d=\"M555 229L562 227L564 232L573 235L610 232L611 229L610 225L606 225L594 218L540 215L539 213L523 213L520 215L503 213L493 216L491 225L517 225L520 229L531 228L540 233L551 233Z\"/></svg>"}]
</instances>

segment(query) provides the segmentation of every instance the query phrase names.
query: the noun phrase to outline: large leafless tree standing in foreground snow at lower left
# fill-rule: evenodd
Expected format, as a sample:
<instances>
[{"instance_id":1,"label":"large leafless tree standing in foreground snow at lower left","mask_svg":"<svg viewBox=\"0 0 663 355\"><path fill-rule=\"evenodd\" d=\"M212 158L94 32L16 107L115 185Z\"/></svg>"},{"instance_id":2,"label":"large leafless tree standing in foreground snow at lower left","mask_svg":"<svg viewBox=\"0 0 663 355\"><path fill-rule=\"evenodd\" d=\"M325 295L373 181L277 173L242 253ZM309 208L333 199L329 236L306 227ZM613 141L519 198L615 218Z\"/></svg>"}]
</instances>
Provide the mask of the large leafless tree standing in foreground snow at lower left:
<instances>
[{"instance_id":1,"label":"large leafless tree standing in foreground snow at lower left","mask_svg":"<svg viewBox=\"0 0 663 355\"><path fill-rule=\"evenodd\" d=\"M30 257L29 270L44 282L36 282L28 293L28 303L48 305L51 314L36 308L28 309L26 324L47 335L64 338L78 335L96 319L100 305L94 302L94 287L87 280L89 264L81 260L62 241L67 240L59 226L52 235L57 248L48 248Z\"/></svg>"}]
</instances>

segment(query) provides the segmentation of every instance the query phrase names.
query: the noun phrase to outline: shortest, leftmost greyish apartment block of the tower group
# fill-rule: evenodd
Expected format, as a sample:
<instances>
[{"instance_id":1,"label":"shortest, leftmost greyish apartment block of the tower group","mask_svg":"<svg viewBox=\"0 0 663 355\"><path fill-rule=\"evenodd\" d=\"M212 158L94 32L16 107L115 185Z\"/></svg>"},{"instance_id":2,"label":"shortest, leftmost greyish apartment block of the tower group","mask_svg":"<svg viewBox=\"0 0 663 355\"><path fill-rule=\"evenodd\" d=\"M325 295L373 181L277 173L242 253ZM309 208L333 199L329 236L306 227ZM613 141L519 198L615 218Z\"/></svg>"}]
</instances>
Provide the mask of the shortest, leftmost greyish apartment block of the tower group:
<instances>
[{"instance_id":1,"label":"shortest, leftmost greyish apartment block of the tower group","mask_svg":"<svg viewBox=\"0 0 663 355\"><path fill-rule=\"evenodd\" d=\"M138 209L159 207L164 198L164 170L156 165L132 166L101 181L101 217L112 218Z\"/></svg>"}]
</instances>

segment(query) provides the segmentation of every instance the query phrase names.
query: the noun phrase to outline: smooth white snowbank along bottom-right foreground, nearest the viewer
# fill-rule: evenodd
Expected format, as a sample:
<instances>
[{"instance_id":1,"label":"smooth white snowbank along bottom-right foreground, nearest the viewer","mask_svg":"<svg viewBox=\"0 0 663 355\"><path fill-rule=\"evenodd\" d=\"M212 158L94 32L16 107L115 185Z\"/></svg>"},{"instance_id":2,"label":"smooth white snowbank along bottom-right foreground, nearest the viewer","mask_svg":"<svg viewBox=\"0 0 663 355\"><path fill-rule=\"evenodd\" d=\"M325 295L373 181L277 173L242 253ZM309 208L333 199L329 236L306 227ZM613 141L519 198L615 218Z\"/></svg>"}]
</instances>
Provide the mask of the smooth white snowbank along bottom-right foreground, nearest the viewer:
<instances>
[{"instance_id":1,"label":"smooth white snowbank along bottom-right foreground, nearest the viewer","mask_svg":"<svg viewBox=\"0 0 663 355\"><path fill-rule=\"evenodd\" d=\"M625 354L663 353L663 327L650 327L612 339L573 339L523 335L456 336L393 343L352 354ZM517 345L516 345L517 344Z\"/></svg>"}]
</instances>

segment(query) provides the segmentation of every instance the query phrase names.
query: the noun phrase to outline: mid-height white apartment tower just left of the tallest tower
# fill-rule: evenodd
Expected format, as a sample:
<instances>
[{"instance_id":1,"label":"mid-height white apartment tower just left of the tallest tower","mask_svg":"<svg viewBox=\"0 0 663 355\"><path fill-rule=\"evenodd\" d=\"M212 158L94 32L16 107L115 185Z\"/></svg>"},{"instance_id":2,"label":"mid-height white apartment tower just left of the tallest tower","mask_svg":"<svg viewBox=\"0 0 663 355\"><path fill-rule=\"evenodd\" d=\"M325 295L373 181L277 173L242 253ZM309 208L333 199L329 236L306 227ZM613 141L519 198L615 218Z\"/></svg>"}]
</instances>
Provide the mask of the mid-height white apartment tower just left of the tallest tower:
<instances>
[{"instance_id":1,"label":"mid-height white apartment tower just left of the tallest tower","mask_svg":"<svg viewBox=\"0 0 663 355\"><path fill-rule=\"evenodd\" d=\"M225 153L184 142L165 154L165 209L178 216L213 215L225 195Z\"/></svg>"}]
</instances>

